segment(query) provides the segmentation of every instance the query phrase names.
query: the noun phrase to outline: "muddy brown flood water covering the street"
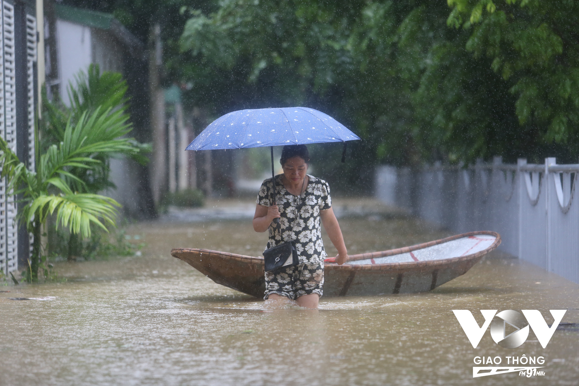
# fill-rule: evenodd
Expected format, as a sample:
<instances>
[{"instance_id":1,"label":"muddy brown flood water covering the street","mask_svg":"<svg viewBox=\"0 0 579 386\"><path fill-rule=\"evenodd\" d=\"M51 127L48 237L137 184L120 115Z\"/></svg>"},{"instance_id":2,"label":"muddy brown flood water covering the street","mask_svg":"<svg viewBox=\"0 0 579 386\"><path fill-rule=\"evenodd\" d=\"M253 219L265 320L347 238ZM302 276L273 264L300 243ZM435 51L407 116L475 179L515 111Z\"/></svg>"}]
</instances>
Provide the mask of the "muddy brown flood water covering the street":
<instances>
[{"instance_id":1,"label":"muddy brown flood water covering the street","mask_svg":"<svg viewBox=\"0 0 579 386\"><path fill-rule=\"evenodd\" d=\"M350 253L449 236L408 218L340 219ZM5 285L0 293L0 385L578 385L579 332L533 332L507 349L489 330L472 348L453 309L567 309L579 285L494 253L434 291L322 297L319 310L265 312L260 299L215 284L171 248L261 256L251 219L130 226L141 256L56 263L66 282ZM136 238L135 238L136 236ZM329 255L335 253L324 240ZM1 282L0 282L1 283ZM28 298L30 300L11 300ZM475 356L544 357L544 376L472 377ZM493 366L493 365L489 365ZM525 366L525 365L521 365ZM529 366L529 365L527 365Z\"/></svg>"}]
</instances>

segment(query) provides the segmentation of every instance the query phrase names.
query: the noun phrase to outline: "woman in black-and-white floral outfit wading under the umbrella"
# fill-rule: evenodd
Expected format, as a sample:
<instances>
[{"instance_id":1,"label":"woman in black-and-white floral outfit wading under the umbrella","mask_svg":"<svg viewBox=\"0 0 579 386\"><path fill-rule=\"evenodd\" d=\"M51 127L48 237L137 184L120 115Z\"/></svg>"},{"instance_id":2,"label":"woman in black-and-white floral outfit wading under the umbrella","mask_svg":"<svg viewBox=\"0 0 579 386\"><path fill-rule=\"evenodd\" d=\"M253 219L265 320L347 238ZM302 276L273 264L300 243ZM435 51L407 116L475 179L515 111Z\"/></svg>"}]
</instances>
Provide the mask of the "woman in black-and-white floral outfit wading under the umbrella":
<instances>
[{"instance_id":1,"label":"woman in black-and-white floral outfit wading under the umbrella","mask_svg":"<svg viewBox=\"0 0 579 386\"><path fill-rule=\"evenodd\" d=\"M327 254L321 226L338 249L336 263L346 262L348 252L342 230L332 210L328 183L307 175L310 155L306 145L287 145L281 152L283 174L276 175L276 202L272 203L272 178L263 181L253 226L256 232L269 229L267 248L294 240L299 264L265 273L267 300L295 300L298 306L317 308L324 285L324 259ZM274 219L280 219L276 226ZM321 224L320 224L321 219ZM281 232L280 232L281 229Z\"/></svg>"}]
</instances>

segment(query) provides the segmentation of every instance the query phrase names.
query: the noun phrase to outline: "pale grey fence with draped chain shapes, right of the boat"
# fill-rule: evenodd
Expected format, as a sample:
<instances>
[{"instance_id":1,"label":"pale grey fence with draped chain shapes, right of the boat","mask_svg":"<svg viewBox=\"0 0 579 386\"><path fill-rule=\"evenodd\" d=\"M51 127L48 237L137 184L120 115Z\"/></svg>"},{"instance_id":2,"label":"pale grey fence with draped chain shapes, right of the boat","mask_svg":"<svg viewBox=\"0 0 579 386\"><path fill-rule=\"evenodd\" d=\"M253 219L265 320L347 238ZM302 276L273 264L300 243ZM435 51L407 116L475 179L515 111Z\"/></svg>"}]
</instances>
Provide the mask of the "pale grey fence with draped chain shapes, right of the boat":
<instances>
[{"instance_id":1,"label":"pale grey fence with draped chain shapes, right of the boat","mask_svg":"<svg viewBox=\"0 0 579 386\"><path fill-rule=\"evenodd\" d=\"M500 249L579 283L579 164L378 167L376 196L457 233L493 230Z\"/></svg>"}]
</instances>

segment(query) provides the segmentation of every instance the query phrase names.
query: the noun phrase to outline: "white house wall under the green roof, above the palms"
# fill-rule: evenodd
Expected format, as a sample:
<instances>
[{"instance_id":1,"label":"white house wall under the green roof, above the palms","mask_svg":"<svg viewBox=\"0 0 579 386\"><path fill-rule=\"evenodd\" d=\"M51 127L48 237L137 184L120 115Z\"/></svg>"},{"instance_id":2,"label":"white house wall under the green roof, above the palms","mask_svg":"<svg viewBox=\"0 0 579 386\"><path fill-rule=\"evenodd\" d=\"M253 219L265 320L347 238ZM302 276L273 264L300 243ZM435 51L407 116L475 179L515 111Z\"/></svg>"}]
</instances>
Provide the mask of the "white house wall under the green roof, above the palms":
<instances>
[{"instance_id":1,"label":"white house wall under the green roof, above the palms","mask_svg":"<svg viewBox=\"0 0 579 386\"><path fill-rule=\"evenodd\" d=\"M57 20L56 38L60 96L64 104L69 106L68 83L75 84L74 76L81 69L87 71L92 62L91 31L89 27L80 24Z\"/></svg>"}]
</instances>

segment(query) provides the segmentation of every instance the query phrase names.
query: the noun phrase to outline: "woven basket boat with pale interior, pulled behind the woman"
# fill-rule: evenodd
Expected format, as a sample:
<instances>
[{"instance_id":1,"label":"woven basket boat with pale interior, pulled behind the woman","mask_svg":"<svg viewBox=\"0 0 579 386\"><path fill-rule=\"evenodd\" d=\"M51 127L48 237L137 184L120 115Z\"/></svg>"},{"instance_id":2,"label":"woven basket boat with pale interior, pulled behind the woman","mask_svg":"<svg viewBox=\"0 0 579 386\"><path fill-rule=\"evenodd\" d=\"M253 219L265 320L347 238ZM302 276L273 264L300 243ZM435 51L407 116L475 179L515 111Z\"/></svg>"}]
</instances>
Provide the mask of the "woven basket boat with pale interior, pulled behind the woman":
<instances>
[{"instance_id":1,"label":"woven basket boat with pale interior, pulled behind the woman","mask_svg":"<svg viewBox=\"0 0 579 386\"><path fill-rule=\"evenodd\" d=\"M498 233L478 231L412 247L351 255L341 266L327 259L324 266L324 295L365 296L431 291L464 275L500 243ZM171 250L171 255L189 263L217 284L263 297L263 258L193 248L175 248Z\"/></svg>"}]
</instances>

